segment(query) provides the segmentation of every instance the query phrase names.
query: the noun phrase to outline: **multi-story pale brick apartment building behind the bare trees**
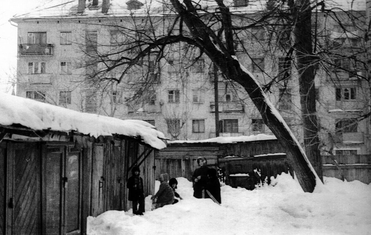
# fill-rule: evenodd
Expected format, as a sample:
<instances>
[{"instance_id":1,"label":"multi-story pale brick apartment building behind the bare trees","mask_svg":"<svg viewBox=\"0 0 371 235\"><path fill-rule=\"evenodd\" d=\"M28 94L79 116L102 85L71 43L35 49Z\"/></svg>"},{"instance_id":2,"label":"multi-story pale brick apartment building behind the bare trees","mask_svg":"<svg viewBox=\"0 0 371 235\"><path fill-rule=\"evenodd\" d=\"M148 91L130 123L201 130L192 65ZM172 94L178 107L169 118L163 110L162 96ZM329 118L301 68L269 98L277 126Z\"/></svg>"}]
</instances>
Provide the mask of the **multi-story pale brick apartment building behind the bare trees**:
<instances>
[{"instance_id":1,"label":"multi-story pale brick apartment building behind the bare trees","mask_svg":"<svg viewBox=\"0 0 371 235\"><path fill-rule=\"evenodd\" d=\"M233 20L242 25L247 17L241 16L259 17L269 2L227 3L236 13ZM270 133L244 89L214 74L207 57L198 58L197 50L184 43L161 51L161 58L153 50L132 65L120 83L104 80L98 84L88 79L92 74L102 78L96 71L105 69L102 57L99 63L91 61L130 45L126 43L129 38L179 32L171 26L176 14L169 5L143 0L61 3L12 19L18 27L18 96L83 112L146 120L173 139L207 139L216 132L216 74L221 135ZM336 5L336 1L331 4ZM367 154L371 152L370 119L361 118L370 109L370 84L362 67L365 2L339 0L335 5L322 6L332 9L331 14L323 9L313 11L313 32L323 46L317 50L323 57L317 62L315 79L322 146L325 150L333 148L336 154ZM282 81L272 83L267 95L301 139L298 71L294 60L285 59L287 48L282 44L290 42L292 35L286 34L285 27L272 28L267 25L237 33L236 54L261 84L286 74ZM127 29L134 30L128 33ZM93 58L90 52L98 57ZM104 76L121 79L121 72L115 69ZM138 92L143 86L147 89ZM138 99L131 99L134 93L139 94Z\"/></svg>"}]
</instances>

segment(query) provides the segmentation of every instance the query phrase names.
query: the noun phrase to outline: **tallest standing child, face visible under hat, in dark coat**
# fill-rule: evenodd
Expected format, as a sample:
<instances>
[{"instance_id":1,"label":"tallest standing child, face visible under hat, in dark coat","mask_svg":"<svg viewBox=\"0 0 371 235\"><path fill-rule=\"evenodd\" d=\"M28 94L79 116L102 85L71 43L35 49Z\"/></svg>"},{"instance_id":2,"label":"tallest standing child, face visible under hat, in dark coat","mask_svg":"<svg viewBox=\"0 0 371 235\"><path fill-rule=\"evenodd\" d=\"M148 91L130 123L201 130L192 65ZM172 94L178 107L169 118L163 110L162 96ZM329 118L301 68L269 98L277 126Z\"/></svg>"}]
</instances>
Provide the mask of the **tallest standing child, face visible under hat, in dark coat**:
<instances>
[{"instance_id":1,"label":"tallest standing child, face visible under hat, in dark coat","mask_svg":"<svg viewBox=\"0 0 371 235\"><path fill-rule=\"evenodd\" d=\"M207 161L204 157L197 158L197 164L200 166L196 170L194 170L192 175L192 182L193 182L193 196L195 198L203 198L204 189L207 184Z\"/></svg>"}]
</instances>

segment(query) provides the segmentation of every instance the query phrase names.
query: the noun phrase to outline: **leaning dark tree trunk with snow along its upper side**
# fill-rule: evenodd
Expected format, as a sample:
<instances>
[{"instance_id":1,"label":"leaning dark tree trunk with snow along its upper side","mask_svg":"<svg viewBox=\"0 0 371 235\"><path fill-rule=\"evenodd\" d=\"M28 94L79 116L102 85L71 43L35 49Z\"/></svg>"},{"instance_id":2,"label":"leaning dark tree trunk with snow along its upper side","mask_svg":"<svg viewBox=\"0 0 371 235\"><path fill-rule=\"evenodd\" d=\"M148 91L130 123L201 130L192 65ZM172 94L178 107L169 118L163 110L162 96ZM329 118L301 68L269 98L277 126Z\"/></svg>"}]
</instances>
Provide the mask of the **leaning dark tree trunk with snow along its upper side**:
<instances>
[{"instance_id":1,"label":"leaning dark tree trunk with snow along its upper side","mask_svg":"<svg viewBox=\"0 0 371 235\"><path fill-rule=\"evenodd\" d=\"M216 34L200 19L191 0L183 0L184 5L178 0L170 1L175 10L183 16L184 23L187 25L188 29L190 29L191 36L197 42L197 46L209 56L211 61L219 67L221 72L228 79L244 87L254 105L259 109L264 123L272 130L280 144L285 147L287 151L286 154L293 166L301 187L305 192L313 192L316 182L318 182L316 180L318 176L311 163L309 163L309 160L306 158L304 150L286 125L282 116L267 98L257 80L234 56L233 50L230 50L229 44L231 43L227 44L229 47L229 49L227 49ZM230 23L228 20L228 8L224 6L222 0L216 0L216 2L219 5L221 14L225 14L223 19L227 19L222 22L223 27L231 27L231 25L228 26ZM226 40L227 42L233 42L233 35L229 34L228 36L226 34Z\"/></svg>"}]
</instances>

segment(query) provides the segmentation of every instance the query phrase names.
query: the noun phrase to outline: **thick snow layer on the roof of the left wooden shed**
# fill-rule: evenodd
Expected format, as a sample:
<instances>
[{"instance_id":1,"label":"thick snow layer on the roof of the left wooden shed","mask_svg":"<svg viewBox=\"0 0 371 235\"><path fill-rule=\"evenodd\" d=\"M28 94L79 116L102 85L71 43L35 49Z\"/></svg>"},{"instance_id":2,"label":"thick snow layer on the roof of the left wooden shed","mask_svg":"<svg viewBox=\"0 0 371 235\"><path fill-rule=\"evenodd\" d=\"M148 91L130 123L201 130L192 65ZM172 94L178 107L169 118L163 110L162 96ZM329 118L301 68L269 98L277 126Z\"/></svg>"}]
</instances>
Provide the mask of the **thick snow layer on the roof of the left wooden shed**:
<instances>
[{"instance_id":1,"label":"thick snow layer on the roof of the left wooden shed","mask_svg":"<svg viewBox=\"0 0 371 235\"><path fill-rule=\"evenodd\" d=\"M121 120L92 113L81 113L63 107L0 92L0 125L20 124L34 130L76 131L84 135L114 134L142 139L156 149L163 149L167 139L150 123Z\"/></svg>"}]
</instances>

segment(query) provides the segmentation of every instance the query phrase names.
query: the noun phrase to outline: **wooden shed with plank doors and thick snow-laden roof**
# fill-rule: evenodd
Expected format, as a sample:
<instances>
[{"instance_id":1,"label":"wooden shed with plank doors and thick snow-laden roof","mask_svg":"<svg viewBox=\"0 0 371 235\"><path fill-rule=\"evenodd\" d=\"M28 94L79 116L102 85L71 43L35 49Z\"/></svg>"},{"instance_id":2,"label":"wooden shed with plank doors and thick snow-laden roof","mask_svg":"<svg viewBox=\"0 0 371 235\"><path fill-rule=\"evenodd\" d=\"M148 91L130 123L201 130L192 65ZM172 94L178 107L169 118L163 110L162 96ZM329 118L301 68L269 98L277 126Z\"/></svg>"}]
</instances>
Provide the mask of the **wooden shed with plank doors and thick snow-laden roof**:
<instances>
[{"instance_id":1,"label":"wooden shed with plank doors and thick snow-laden roof","mask_svg":"<svg viewBox=\"0 0 371 235\"><path fill-rule=\"evenodd\" d=\"M162 139L146 122L0 93L0 234L86 234L87 216L128 210L134 165L154 193Z\"/></svg>"}]
</instances>

